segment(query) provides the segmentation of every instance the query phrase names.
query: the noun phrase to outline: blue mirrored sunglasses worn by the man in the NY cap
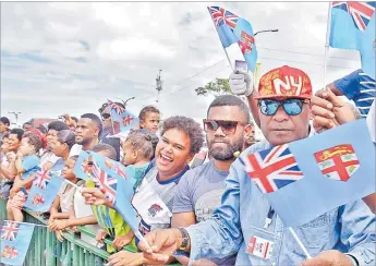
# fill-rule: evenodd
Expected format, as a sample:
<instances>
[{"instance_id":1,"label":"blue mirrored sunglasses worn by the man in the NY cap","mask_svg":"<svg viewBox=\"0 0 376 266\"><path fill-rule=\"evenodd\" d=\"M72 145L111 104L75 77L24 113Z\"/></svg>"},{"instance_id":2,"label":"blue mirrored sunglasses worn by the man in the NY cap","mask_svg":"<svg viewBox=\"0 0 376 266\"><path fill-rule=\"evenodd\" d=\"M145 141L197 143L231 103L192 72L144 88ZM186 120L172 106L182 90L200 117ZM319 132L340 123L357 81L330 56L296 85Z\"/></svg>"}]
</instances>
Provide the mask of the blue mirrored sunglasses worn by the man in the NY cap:
<instances>
[{"instance_id":1,"label":"blue mirrored sunglasses worn by the man in the NY cap","mask_svg":"<svg viewBox=\"0 0 376 266\"><path fill-rule=\"evenodd\" d=\"M298 116L303 110L303 105L307 104L310 100L306 99L260 99L258 100L259 110L265 116L276 114L280 106L283 107L283 110L289 116Z\"/></svg>"}]
</instances>

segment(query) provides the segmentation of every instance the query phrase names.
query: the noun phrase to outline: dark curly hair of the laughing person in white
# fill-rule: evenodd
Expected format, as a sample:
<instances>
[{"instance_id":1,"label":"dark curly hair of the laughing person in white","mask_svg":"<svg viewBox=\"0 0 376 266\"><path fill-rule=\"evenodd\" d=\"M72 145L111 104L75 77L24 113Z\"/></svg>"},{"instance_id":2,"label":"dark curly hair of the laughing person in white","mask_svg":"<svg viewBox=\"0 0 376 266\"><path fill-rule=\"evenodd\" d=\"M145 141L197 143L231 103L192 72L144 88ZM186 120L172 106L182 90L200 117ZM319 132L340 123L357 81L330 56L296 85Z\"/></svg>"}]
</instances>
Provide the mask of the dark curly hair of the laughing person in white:
<instances>
[{"instance_id":1,"label":"dark curly hair of the laughing person in white","mask_svg":"<svg viewBox=\"0 0 376 266\"><path fill-rule=\"evenodd\" d=\"M199 123L194 121L192 118L186 118L182 116L171 117L165 120L161 135L166 131L177 129L182 132L185 132L191 140L190 152L192 154L197 154L204 143L204 133Z\"/></svg>"}]
</instances>

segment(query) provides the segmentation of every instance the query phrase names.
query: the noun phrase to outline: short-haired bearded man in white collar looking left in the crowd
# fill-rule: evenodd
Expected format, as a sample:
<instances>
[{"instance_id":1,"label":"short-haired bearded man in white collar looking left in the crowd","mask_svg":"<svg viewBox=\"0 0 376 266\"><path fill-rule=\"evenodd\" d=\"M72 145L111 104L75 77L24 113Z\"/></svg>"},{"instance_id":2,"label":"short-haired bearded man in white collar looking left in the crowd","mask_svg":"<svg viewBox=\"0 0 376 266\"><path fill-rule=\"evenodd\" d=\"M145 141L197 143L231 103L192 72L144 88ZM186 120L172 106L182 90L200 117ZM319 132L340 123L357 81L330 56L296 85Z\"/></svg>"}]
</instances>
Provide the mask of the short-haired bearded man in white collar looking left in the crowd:
<instances>
[{"instance_id":1,"label":"short-haired bearded man in white collar looking left in the crowd","mask_svg":"<svg viewBox=\"0 0 376 266\"><path fill-rule=\"evenodd\" d=\"M98 144L102 131L102 124L98 116L85 113L81 116L75 129L75 145L71 149L71 156L80 155L81 150L92 149Z\"/></svg>"}]
</instances>

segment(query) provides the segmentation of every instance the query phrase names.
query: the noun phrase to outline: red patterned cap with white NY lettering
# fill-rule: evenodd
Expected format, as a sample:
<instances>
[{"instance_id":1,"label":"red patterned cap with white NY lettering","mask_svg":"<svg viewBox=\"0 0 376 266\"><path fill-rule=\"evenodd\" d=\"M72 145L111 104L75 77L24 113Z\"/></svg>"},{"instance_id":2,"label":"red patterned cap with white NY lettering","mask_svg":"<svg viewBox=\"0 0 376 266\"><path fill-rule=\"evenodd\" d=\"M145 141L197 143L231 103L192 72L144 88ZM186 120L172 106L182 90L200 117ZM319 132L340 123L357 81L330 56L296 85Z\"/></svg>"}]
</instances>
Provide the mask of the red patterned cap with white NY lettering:
<instances>
[{"instance_id":1,"label":"red patterned cap with white NY lettering","mask_svg":"<svg viewBox=\"0 0 376 266\"><path fill-rule=\"evenodd\" d=\"M255 99L290 97L310 99L312 84L308 75L299 69L283 65L262 76Z\"/></svg>"}]
</instances>

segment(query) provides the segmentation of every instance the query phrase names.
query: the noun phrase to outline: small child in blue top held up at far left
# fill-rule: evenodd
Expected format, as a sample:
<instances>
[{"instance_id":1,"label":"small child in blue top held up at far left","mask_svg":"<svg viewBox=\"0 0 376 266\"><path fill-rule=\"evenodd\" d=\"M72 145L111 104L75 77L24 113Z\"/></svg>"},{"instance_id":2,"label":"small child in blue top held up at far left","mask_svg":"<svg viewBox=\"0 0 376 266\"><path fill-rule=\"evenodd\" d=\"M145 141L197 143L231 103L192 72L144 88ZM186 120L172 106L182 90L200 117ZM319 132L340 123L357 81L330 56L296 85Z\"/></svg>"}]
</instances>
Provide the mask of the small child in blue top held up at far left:
<instances>
[{"instance_id":1,"label":"small child in blue top held up at far left","mask_svg":"<svg viewBox=\"0 0 376 266\"><path fill-rule=\"evenodd\" d=\"M39 158L36 154L41 148L41 140L33 132L25 132L17 150L14 164L11 167L17 172L10 198L7 203L7 211L10 220L23 221L22 207L27 198L27 193L33 184L35 172L39 170Z\"/></svg>"}]
</instances>

